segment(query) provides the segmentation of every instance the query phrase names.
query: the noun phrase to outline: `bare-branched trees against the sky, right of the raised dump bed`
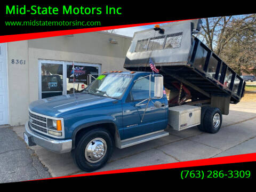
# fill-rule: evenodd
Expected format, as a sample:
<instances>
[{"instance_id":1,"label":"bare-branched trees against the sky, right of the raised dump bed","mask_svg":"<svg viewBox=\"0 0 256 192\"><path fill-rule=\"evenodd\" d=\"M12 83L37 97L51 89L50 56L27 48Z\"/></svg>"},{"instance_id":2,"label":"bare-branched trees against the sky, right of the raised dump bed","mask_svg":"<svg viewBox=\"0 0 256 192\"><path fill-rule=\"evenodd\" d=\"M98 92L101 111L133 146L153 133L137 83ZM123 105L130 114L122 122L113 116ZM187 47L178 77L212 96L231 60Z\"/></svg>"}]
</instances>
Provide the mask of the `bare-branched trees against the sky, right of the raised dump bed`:
<instances>
[{"instance_id":1,"label":"bare-branched trees against the sky, right of the raised dump bed","mask_svg":"<svg viewBox=\"0 0 256 192\"><path fill-rule=\"evenodd\" d=\"M196 34L211 50L233 68L255 69L256 14L202 19L202 29Z\"/></svg>"}]
</instances>

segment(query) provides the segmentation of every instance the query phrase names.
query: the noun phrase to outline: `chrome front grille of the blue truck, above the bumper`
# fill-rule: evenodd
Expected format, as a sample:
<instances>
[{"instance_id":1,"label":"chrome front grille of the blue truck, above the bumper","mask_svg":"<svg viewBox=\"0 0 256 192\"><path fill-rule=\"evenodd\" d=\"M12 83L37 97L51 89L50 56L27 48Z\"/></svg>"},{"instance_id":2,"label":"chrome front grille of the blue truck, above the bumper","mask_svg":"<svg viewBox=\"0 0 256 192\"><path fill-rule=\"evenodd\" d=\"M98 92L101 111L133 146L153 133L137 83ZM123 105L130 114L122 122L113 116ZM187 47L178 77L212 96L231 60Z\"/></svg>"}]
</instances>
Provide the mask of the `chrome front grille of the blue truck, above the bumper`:
<instances>
[{"instance_id":1,"label":"chrome front grille of the blue truck, above the bumper","mask_svg":"<svg viewBox=\"0 0 256 192\"><path fill-rule=\"evenodd\" d=\"M47 123L47 121L52 121L52 119L59 119L62 122L62 127L63 127L63 119L62 118L54 118L54 117L49 117L49 116L45 116L45 115L41 115L41 114L37 114L34 113L33 111L28 112L28 117L29 117L29 127L30 129L42 133L42 134L46 134L49 135L50 137L54 137L54 138L64 138L64 131L62 129L62 136L61 137L57 137L54 136L52 134L48 133L48 130L55 130L54 127L50 126L49 122Z\"/></svg>"}]
</instances>

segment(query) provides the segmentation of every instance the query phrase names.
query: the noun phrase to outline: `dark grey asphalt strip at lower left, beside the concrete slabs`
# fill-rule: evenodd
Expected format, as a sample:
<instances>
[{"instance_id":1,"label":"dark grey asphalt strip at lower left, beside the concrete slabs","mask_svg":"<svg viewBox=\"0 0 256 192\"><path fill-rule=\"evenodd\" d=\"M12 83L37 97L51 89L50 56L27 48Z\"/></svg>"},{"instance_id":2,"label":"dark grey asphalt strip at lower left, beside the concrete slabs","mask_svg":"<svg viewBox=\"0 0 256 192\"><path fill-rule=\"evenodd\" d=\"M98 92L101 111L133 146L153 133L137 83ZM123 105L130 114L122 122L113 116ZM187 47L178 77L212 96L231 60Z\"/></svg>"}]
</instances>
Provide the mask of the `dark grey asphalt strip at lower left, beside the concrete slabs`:
<instances>
[{"instance_id":1,"label":"dark grey asphalt strip at lower left, beside the concrete slabs","mask_svg":"<svg viewBox=\"0 0 256 192\"><path fill-rule=\"evenodd\" d=\"M12 127L0 125L0 183L50 178L47 170Z\"/></svg>"}]
</instances>

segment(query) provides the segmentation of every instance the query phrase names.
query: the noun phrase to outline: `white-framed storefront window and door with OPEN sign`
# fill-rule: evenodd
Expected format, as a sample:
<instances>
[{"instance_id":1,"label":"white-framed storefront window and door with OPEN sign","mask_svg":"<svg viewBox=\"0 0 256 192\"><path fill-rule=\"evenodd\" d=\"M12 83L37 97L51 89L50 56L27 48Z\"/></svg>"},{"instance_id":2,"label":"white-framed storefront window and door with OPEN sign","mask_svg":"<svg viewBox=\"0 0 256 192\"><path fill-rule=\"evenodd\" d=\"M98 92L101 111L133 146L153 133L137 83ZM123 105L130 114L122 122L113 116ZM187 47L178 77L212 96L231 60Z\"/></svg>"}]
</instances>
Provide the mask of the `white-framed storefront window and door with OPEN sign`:
<instances>
[{"instance_id":1,"label":"white-framed storefront window and door with OPEN sign","mask_svg":"<svg viewBox=\"0 0 256 192\"><path fill-rule=\"evenodd\" d=\"M101 72L101 65L57 60L39 60L39 99L81 92ZM93 77L94 78L93 78Z\"/></svg>"}]
</instances>

